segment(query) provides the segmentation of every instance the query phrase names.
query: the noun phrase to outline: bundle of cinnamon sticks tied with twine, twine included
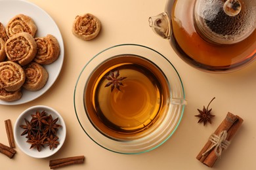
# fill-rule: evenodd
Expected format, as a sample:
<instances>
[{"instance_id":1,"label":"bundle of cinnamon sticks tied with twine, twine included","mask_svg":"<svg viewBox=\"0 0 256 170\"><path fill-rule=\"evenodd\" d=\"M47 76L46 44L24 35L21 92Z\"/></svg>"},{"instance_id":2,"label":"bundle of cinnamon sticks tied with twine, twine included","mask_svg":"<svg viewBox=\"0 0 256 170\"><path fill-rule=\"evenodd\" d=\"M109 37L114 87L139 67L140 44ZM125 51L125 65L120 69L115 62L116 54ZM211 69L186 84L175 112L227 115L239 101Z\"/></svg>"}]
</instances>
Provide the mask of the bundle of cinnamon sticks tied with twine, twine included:
<instances>
[{"instance_id":1,"label":"bundle of cinnamon sticks tied with twine, twine included","mask_svg":"<svg viewBox=\"0 0 256 170\"><path fill-rule=\"evenodd\" d=\"M213 167L223 150L228 147L232 137L234 137L243 121L239 116L228 112L226 118L209 137L209 140L203 146L198 156L196 156L196 159L208 167Z\"/></svg>"}]
</instances>

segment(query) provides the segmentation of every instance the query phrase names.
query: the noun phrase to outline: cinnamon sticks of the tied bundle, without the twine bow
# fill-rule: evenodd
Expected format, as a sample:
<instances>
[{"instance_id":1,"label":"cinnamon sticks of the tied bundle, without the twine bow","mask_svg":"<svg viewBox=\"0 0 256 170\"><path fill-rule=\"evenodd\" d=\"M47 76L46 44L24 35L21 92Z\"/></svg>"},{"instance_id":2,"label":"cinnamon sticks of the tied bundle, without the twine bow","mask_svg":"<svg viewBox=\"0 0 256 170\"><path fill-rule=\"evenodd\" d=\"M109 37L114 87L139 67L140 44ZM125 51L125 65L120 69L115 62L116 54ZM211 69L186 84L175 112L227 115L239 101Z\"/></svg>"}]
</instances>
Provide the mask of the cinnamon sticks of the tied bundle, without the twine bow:
<instances>
[{"instance_id":1,"label":"cinnamon sticks of the tied bundle, without the twine bow","mask_svg":"<svg viewBox=\"0 0 256 170\"><path fill-rule=\"evenodd\" d=\"M226 131L225 141L229 143L232 137L234 137L236 131L242 125L242 122L242 118L228 112L228 114L226 114L226 118L223 120L223 122L221 122L220 126L217 127L213 134L219 136L223 131ZM219 158L219 156L216 154L215 146L213 145L214 143L208 140L205 146L203 146L202 150L199 152L198 156L196 156L196 159L208 167L213 167L215 161Z\"/></svg>"}]
</instances>

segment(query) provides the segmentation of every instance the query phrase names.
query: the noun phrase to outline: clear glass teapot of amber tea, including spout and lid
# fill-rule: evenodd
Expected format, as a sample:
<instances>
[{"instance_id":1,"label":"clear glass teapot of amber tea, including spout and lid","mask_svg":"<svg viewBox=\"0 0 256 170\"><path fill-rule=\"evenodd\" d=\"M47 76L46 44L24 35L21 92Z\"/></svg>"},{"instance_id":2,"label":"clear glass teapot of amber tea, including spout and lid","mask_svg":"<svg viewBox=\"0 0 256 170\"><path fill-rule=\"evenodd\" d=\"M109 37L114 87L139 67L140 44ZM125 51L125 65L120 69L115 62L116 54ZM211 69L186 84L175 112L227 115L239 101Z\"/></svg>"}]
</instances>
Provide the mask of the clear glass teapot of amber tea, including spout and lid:
<instances>
[{"instance_id":1,"label":"clear glass teapot of amber tea, including spout and lid","mask_svg":"<svg viewBox=\"0 0 256 170\"><path fill-rule=\"evenodd\" d=\"M202 71L228 73L256 58L255 0L168 0L149 24Z\"/></svg>"}]
</instances>

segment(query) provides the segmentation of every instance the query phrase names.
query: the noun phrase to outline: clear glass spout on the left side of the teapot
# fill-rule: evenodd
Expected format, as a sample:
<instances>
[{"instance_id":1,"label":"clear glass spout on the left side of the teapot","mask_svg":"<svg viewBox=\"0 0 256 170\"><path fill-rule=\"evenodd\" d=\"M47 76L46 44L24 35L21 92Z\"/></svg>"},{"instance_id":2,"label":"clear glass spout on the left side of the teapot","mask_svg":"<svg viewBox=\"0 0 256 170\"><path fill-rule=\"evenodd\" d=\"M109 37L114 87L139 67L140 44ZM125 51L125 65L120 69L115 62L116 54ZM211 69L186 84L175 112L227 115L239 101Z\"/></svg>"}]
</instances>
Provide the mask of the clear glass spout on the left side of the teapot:
<instances>
[{"instance_id":1,"label":"clear glass spout on the left side of the teapot","mask_svg":"<svg viewBox=\"0 0 256 170\"><path fill-rule=\"evenodd\" d=\"M168 15L163 12L157 16L148 18L148 22L154 33L160 35L163 39L170 39L171 24Z\"/></svg>"}]
</instances>

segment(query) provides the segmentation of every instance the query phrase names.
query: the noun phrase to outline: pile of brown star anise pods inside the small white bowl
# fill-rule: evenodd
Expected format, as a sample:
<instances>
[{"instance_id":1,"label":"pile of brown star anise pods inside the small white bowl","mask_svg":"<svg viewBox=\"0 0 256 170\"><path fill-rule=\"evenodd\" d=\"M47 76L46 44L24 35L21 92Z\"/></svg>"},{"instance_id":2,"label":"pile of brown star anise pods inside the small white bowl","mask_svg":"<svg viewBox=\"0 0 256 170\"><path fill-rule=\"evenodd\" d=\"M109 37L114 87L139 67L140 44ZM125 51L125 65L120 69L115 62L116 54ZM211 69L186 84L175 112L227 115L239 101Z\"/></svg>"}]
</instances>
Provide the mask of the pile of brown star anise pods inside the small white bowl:
<instances>
[{"instance_id":1,"label":"pile of brown star anise pods inside the small white bowl","mask_svg":"<svg viewBox=\"0 0 256 170\"><path fill-rule=\"evenodd\" d=\"M47 115L47 112L43 110L42 112L36 111L32 114L32 119L28 121L24 118L26 125L20 125L22 129L22 136L26 135L28 138L27 143L30 143L30 148L36 148L39 152L41 148L49 146L50 150L58 146L58 128L62 127L57 124L58 118L53 120L53 116Z\"/></svg>"}]
</instances>

